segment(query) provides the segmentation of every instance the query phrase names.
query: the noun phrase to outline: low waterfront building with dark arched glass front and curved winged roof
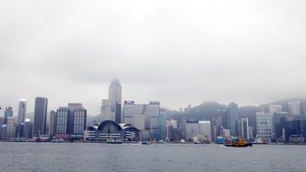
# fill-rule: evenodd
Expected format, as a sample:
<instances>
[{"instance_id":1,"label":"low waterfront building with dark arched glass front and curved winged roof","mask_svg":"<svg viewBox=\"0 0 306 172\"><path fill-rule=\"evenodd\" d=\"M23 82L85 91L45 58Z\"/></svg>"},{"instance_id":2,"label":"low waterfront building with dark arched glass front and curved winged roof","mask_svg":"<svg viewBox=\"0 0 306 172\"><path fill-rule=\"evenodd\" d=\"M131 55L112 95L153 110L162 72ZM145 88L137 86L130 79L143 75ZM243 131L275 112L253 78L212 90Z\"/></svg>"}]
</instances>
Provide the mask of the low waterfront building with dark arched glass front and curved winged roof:
<instances>
[{"instance_id":1,"label":"low waterfront building with dark arched glass front and curved winged roof","mask_svg":"<svg viewBox=\"0 0 306 172\"><path fill-rule=\"evenodd\" d=\"M139 129L131 124L119 124L113 120L104 120L100 124L88 127L84 131L84 139L102 142L108 140L138 141Z\"/></svg>"}]
</instances>

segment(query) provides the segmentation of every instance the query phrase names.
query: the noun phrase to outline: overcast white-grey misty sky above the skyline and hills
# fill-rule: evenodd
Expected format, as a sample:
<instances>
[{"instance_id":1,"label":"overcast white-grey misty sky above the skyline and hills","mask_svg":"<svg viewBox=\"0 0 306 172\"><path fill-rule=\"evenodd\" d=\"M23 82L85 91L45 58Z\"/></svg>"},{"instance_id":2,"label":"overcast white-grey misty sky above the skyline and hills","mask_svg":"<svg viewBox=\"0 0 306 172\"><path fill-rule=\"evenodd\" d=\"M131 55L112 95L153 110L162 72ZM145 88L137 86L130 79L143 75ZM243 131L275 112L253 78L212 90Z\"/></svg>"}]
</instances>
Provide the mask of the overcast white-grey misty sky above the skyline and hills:
<instances>
[{"instance_id":1,"label":"overcast white-grey misty sky above the skyline and hills","mask_svg":"<svg viewBox=\"0 0 306 172\"><path fill-rule=\"evenodd\" d=\"M0 106L306 97L306 1L0 1ZM1 110L1 114L4 110Z\"/></svg>"}]
</instances>

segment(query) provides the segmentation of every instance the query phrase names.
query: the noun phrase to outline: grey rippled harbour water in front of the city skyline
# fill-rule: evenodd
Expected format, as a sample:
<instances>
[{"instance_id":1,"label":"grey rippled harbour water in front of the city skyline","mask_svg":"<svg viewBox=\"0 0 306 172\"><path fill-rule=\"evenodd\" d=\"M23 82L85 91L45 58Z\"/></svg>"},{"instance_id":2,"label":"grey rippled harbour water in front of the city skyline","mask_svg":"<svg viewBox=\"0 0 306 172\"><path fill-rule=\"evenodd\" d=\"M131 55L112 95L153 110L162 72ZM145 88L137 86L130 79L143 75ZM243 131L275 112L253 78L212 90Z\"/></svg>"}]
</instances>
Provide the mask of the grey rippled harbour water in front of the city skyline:
<instances>
[{"instance_id":1,"label":"grey rippled harbour water in front of the city skyline","mask_svg":"<svg viewBox=\"0 0 306 172\"><path fill-rule=\"evenodd\" d=\"M306 146L0 142L0 171L306 171Z\"/></svg>"}]
</instances>

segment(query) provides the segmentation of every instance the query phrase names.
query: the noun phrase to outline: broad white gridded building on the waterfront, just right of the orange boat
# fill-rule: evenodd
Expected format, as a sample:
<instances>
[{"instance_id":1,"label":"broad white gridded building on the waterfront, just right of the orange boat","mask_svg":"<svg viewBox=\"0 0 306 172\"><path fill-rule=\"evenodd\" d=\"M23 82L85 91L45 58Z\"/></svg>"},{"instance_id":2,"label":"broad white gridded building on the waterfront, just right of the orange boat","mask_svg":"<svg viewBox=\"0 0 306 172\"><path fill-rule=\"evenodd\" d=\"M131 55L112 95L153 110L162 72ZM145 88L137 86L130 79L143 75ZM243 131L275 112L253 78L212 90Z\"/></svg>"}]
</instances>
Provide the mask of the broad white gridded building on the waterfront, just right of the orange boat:
<instances>
[{"instance_id":1,"label":"broad white gridded building on the waterfront, just right of the orange boat","mask_svg":"<svg viewBox=\"0 0 306 172\"><path fill-rule=\"evenodd\" d=\"M272 139L272 115L265 112L256 112L256 138Z\"/></svg>"}]
</instances>

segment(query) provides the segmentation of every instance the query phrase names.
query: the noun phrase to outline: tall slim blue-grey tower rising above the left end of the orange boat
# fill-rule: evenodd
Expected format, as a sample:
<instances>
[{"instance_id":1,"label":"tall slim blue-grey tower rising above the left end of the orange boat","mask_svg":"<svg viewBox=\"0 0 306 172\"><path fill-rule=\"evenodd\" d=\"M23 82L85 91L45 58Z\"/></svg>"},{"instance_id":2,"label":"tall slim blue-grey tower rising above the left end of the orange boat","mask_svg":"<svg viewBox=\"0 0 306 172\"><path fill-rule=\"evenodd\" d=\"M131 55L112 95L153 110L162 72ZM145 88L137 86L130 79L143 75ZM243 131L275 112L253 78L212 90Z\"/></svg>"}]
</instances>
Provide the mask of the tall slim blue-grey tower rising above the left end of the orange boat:
<instances>
[{"instance_id":1,"label":"tall slim blue-grey tower rising above the left end of the orange boat","mask_svg":"<svg viewBox=\"0 0 306 172\"><path fill-rule=\"evenodd\" d=\"M231 102L227 111L227 128L232 136L238 136L238 104Z\"/></svg>"}]
</instances>

